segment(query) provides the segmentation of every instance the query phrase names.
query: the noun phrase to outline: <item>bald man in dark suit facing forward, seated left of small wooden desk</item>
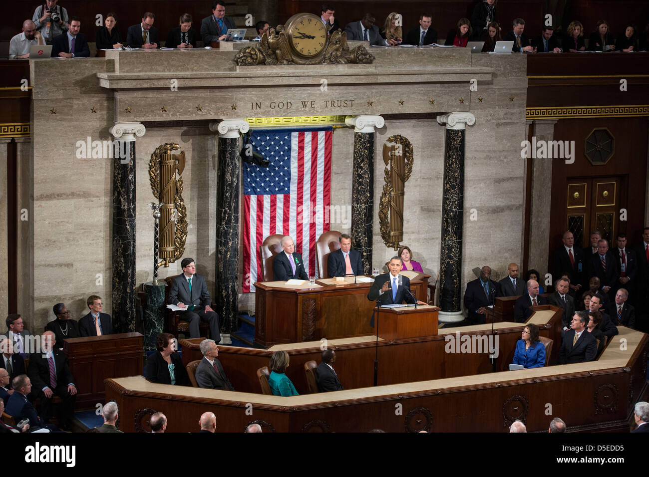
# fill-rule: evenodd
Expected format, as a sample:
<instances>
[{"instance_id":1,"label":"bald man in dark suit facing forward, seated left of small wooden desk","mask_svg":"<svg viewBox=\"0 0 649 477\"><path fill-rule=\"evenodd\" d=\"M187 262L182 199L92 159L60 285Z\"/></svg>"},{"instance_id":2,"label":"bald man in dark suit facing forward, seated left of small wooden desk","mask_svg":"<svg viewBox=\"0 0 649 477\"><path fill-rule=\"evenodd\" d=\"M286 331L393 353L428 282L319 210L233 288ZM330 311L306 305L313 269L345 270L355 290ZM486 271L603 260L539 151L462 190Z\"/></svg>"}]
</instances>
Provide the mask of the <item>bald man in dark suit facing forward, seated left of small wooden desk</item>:
<instances>
[{"instance_id":1,"label":"bald man in dark suit facing forward, seated left of small wooden desk","mask_svg":"<svg viewBox=\"0 0 649 477\"><path fill-rule=\"evenodd\" d=\"M58 407L57 419L64 430L72 429L77 387L67 364L64 352L56 349L56 337L53 332L46 331L41 337L42 352L29 355L27 375L36 389L32 391L34 398L41 398L41 416L49 422L54 396L62 399Z\"/></svg>"}]
</instances>

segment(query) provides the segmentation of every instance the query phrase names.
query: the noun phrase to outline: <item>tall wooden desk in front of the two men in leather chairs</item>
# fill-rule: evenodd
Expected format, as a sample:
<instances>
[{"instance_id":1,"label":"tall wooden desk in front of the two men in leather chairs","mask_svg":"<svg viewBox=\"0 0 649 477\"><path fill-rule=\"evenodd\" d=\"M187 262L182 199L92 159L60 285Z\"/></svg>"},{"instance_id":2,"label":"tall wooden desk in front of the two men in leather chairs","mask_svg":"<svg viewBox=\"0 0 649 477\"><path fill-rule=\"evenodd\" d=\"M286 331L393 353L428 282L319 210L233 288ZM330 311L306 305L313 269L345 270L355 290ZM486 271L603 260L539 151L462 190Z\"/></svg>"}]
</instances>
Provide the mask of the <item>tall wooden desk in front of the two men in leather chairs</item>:
<instances>
[{"instance_id":1,"label":"tall wooden desk in front of the two men in leather chairs","mask_svg":"<svg viewBox=\"0 0 649 477\"><path fill-rule=\"evenodd\" d=\"M413 295L426 301L430 275L410 280ZM254 341L267 348L280 343L367 336L374 333L370 320L375 303L367 299L371 283L349 277L341 284L332 279L299 287L285 282L257 282Z\"/></svg>"}]
</instances>

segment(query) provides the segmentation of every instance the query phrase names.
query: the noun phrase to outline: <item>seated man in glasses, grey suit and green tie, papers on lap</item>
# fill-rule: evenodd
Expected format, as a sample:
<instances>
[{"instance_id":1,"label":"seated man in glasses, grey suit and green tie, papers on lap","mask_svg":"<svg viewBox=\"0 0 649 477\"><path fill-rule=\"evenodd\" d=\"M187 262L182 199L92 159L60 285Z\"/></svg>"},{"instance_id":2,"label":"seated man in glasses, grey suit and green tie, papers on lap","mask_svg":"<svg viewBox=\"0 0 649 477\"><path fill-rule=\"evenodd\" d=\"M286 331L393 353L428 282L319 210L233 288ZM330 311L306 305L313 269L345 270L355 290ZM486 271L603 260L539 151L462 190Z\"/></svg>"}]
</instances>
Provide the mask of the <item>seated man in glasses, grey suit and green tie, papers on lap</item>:
<instances>
[{"instance_id":1,"label":"seated man in glasses, grey suit and green tie, papers on lap","mask_svg":"<svg viewBox=\"0 0 649 477\"><path fill-rule=\"evenodd\" d=\"M182 273L171 280L169 304L187 310L182 312L180 317L190 324L190 337L201 336L199 320L202 320L210 324L210 335L219 343L221 341L219 315L212 310L212 299L207 291L205 277L196 273L193 258L183 258L180 265Z\"/></svg>"}]
</instances>

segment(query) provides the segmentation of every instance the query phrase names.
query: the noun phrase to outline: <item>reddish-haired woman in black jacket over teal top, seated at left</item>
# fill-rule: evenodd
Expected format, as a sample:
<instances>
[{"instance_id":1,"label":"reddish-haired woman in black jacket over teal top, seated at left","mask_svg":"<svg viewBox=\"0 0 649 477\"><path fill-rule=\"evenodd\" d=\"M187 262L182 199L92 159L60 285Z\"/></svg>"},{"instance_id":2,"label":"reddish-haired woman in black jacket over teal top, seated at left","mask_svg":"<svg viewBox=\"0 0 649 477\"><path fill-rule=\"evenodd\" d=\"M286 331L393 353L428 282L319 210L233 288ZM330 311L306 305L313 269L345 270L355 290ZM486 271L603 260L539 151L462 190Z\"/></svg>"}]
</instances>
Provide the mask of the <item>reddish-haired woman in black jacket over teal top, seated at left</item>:
<instances>
[{"instance_id":1,"label":"reddish-haired woman in black jacket over teal top, seated at left","mask_svg":"<svg viewBox=\"0 0 649 477\"><path fill-rule=\"evenodd\" d=\"M147 358L144 377L152 383L191 386L190 376L176 352L176 340L171 333L160 333L156 339L158 350Z\"/></svg>"}]
</instances>

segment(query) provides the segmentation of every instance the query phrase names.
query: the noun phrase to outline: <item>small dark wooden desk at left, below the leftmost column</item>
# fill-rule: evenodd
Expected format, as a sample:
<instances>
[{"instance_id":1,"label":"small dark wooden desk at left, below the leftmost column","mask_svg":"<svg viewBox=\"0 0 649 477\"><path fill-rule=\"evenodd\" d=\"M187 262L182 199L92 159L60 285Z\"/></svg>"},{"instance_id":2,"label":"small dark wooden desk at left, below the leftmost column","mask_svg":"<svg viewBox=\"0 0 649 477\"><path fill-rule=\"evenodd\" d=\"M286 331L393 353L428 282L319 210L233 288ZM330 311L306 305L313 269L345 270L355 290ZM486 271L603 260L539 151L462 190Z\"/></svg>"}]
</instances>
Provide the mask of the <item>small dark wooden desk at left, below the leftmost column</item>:
<instances>
[{"instance_id":1,"label":"small dark wooden desk at left, below the leftmost column","mask_svg":"<svg viewBox=\"0 0 649 477\"><path fill-rule=\"evenodd\" d=\"M63 340L63 351L79 391L75 409L94 408L97 402L105 402L104 379L142 374L142 340L140 333Z\"/></svg>"}]
</instances>

